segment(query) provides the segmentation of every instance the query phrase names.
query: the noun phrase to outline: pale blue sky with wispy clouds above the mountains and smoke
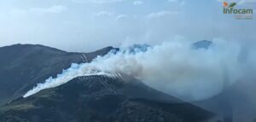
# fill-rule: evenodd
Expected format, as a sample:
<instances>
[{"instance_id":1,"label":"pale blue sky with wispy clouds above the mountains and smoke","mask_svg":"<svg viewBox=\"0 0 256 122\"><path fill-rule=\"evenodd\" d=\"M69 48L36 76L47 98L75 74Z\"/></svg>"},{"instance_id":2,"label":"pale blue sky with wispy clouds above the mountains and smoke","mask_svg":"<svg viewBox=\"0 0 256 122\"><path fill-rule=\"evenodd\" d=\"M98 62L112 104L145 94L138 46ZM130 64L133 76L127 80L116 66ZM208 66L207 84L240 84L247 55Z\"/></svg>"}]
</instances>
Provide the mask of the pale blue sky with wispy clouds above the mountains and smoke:
<instances>
[{"instance_id":1,"label":"pale blue sky with wispy clouds above the mountains and smoke","mask_svg":"<svg viewBox=\"0 0 256 122\"><path fill-rule=\"evenodd\" d=\"M255 0L234 1L256 11ZM0 0L0 47L44 44L86 52L177 39L255 42L253 17L224 15L220 0Z\"/></svg>"}]
</instances>

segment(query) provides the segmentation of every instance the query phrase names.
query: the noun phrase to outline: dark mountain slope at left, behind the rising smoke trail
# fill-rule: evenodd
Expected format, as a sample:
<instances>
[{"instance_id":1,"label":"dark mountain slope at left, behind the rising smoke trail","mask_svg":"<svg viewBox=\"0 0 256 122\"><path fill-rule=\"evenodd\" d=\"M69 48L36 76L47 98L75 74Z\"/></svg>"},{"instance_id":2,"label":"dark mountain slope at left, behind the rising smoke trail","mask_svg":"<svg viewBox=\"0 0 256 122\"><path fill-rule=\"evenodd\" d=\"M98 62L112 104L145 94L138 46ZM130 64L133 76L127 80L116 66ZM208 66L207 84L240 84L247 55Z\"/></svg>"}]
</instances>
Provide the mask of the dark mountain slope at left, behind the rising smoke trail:
<instances>
[{"instance_id":1,"label":"dark mountain slope at left, behind the rising smoke trail","mask_svg":"<svg viewBox=\"0 0 256 122\"><path fill-rule=\"evenodd\" d=\"M113 48L107 47L92 53L69 53L32 44L0 48L0 106L24 95L46 78L61 73L71 63L91 61L97 55L106 55L111 49Z\"/></svg>"}]
</instances>

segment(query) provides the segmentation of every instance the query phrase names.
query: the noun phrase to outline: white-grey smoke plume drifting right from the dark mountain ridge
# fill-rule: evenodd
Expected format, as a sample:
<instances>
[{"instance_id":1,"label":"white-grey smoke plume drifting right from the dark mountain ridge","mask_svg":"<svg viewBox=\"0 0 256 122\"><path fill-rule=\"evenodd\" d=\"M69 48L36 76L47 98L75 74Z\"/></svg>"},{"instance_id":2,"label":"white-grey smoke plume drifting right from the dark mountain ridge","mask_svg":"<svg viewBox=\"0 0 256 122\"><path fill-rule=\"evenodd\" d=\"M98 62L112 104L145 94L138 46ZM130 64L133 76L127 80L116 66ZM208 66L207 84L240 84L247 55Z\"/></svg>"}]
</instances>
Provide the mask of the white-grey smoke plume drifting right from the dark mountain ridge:
<instances>
[{"instance_id":1,"label":"white-grey smoke plume drifting right from the dark mountain ridge","mask_svg":"<svg viewBox=\"0 0 256 122\"><path fill-rule=\"evenodd\" d=\"M120 73L185 101L197 101L218 94L241 78L252 77L247 67L255 69L255 46L244 51L241 42L212 42L208 49L194 49L189 41L164 42L135 53L123 48L98 56L90 63L73 64L56 78L48 78L29 90L24 97L78 76Z\"/></svg>"}]
</instances>

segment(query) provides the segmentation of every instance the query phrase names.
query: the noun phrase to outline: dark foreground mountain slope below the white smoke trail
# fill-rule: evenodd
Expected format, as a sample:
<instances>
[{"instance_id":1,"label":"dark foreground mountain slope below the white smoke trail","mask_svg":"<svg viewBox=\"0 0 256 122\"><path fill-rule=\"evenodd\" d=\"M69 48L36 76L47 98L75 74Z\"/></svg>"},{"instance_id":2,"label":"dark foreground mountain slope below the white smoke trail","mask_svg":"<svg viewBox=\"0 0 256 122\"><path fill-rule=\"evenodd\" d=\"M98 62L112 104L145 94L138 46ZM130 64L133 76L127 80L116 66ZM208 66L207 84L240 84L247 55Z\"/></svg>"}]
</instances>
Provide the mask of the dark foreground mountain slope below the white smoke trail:
<instances>
[{"instance_id":1,"label":"dark foreground mountain slope below the white smoke trail","mask_svg":"<svg viewBox=\"0 0 256 122\"><path fill-rule=\"evenodd\" d=\"M104 76L74 78L0 107L0 121L9 122L201 122L212 116L135 78Z\"/></svg>"}]
</instances>

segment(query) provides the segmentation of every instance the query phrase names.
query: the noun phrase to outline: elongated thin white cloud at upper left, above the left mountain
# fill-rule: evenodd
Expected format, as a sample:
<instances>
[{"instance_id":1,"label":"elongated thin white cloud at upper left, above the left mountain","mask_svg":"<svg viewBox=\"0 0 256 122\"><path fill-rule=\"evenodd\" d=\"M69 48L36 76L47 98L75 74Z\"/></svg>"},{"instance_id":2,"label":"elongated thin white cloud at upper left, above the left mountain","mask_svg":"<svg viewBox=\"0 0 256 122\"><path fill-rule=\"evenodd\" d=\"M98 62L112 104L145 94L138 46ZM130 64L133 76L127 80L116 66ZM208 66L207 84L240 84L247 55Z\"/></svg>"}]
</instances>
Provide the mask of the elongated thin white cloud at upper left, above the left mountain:
<instances>
[{"instance_id":1,"label":"elongated thin white cloud at upper left, above the left mountain","mask_svg":"<svg viewBox=\"0 0 256 122\"><path fill-rule=\"evenodd\" d=\"M31 12L34 13L61 13L67 10L66 6L63 5L54 5L49 8L32 8L30 9Z\"/></svg>"}]
</instances>

